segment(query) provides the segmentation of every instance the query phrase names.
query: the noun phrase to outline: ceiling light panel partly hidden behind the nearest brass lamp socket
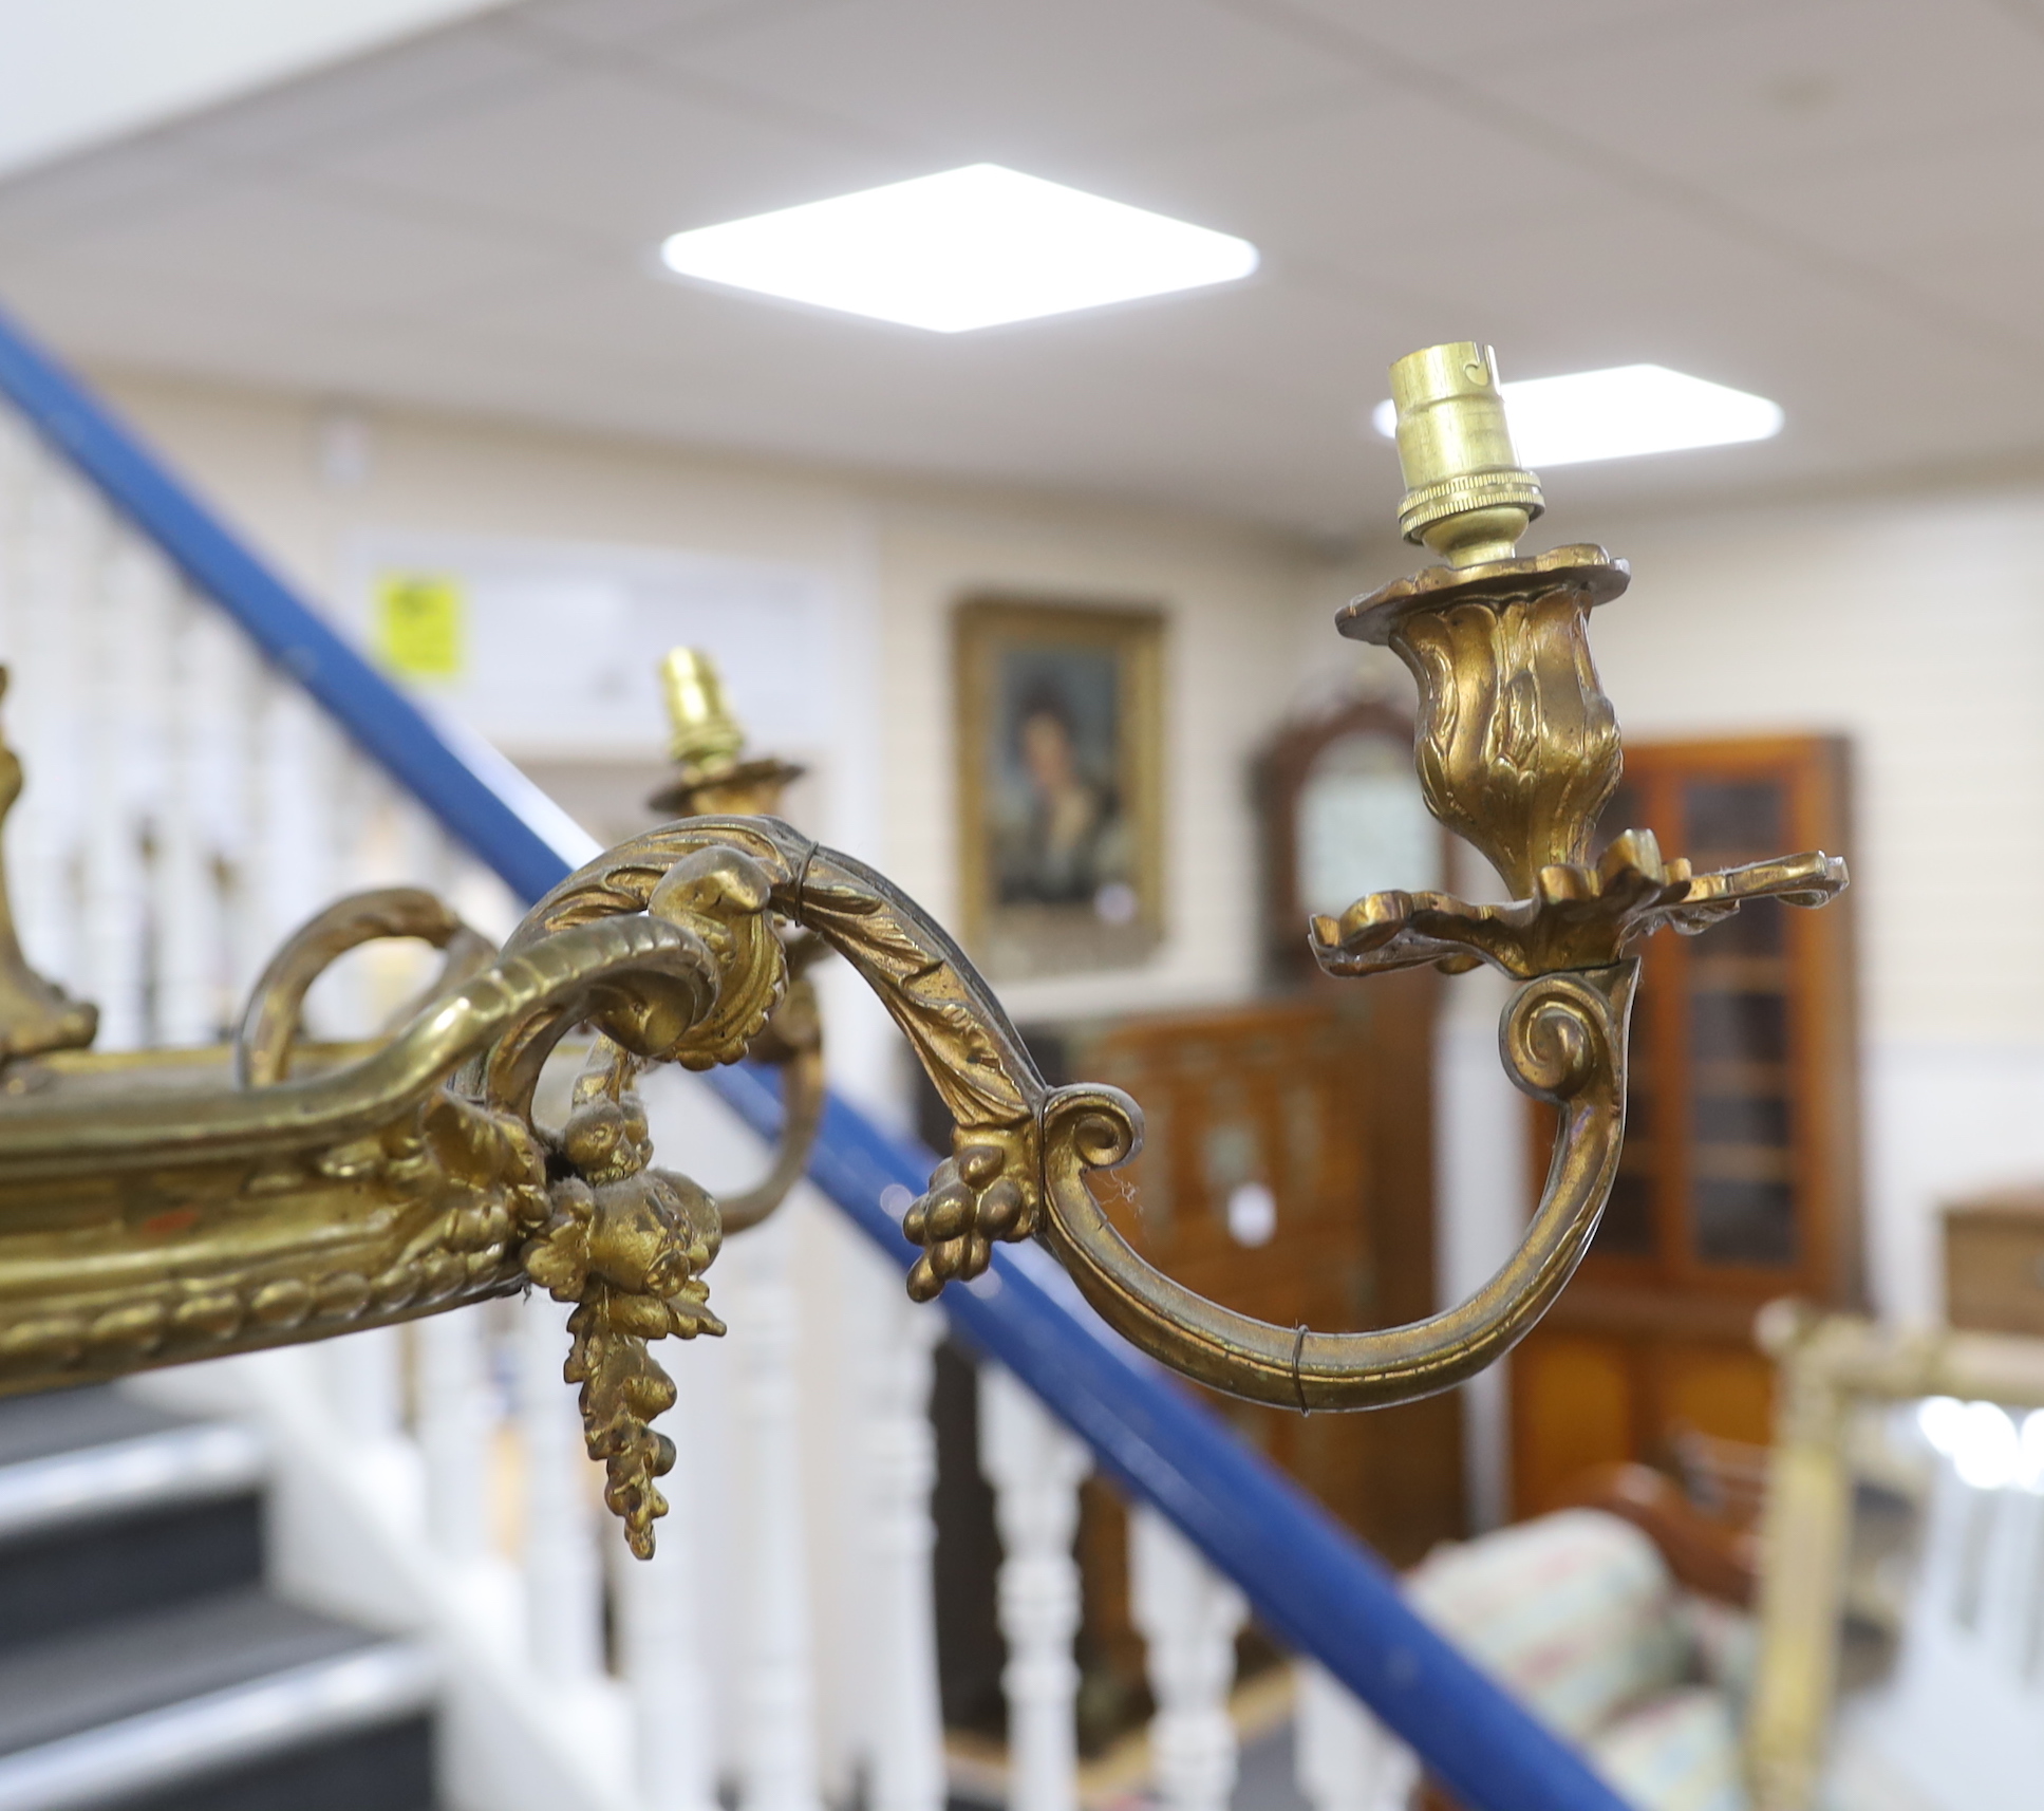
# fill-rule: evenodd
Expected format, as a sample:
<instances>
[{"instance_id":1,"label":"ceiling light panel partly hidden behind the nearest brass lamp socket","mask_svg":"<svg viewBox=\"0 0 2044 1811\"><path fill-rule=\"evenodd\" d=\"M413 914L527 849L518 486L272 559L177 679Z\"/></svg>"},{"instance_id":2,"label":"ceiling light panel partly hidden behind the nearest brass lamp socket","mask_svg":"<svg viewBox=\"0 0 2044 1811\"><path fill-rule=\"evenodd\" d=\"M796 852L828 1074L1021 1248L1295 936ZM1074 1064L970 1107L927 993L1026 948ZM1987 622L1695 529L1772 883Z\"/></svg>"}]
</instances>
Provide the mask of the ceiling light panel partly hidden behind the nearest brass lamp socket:
<instances>
[{"instance_id":1,"label":"ceiling light panel partly hidden behind the nearest brass lamp socket","mask_svg":"<svg viewBox=\"0 0 2044 1811\"><path fill-rule=\"evenodd\" d=\"M1502 390L1513 446L1535 470L1772 439L1782 431L1778 403L1672 372L1664 364L1529 378L1502 384ZM1396 437L1398 411L1388 399L1369 419L1386 439Z\"/></svg>"}]
</instances>

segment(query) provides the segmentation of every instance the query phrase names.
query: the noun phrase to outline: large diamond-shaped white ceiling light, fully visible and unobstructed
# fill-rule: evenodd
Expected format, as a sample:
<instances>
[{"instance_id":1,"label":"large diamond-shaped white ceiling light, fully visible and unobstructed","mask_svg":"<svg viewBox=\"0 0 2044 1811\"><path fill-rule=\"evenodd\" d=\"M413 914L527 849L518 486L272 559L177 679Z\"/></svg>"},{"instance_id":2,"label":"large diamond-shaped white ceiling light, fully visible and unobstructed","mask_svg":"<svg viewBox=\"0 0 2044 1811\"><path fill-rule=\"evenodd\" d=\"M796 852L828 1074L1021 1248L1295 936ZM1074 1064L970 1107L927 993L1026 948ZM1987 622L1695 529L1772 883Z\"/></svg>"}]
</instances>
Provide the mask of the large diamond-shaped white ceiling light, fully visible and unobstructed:
<instances>
[{"instance_id":1,"label":"large diamond-shaped white ceiling light, fully visible and unobstructed","mask_svg":"<svg viewBox=\"0 0 2044 1811\"><path fill-rule=\"evenodd\" d=\"M1257 247L1000 164L969 164L675 233L660 262L791 303L967 333L1233 282L1257 268Z\"/></svg>"}]
</instances>

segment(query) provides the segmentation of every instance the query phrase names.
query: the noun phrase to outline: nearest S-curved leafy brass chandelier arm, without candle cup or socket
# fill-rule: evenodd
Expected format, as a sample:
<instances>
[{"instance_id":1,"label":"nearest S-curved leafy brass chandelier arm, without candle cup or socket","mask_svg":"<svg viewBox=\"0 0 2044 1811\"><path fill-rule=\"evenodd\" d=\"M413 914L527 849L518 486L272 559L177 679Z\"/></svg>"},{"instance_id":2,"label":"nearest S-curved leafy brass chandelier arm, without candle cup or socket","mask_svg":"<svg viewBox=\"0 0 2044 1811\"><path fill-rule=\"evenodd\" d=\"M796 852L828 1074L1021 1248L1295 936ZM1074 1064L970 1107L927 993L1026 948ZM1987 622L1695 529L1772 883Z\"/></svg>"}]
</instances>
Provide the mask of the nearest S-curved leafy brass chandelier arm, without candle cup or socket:
<instances>
[{"instance_id":1,"label":"nearest S-curved leafy brass chandelier arm, without candle cup or socket","mask_svg":"<svg viewBox=\"0 0 2044 1811\"><path fill-rule=\"evenodd\" d=\"M1104 1087L1053 1094L967 957L863 863L775 820L693 818L591 863L527 926L630 912L650 897L656 873L713 846L742 846L773 869L775 910L830 942L879 993L953 1112L953 1155L903 1216L924 1247L910 1275L918 1300L985 1269L995 1241L1036 1235L1114 1327L1173 1369L1292 1408L1361 1408L1451 1388L1506 1351L1596 1230L1623 1141L1631 959L1537 975L1504 1012L1506 1069L1562 1110L1541 1206L1504 1269L1468 1302L1410 1327L1310 1333L1208 1302L1136 1255L1083 1181L1083 1171L1141 1149L1136 1104Z\"/></svg>"}]
</instances>

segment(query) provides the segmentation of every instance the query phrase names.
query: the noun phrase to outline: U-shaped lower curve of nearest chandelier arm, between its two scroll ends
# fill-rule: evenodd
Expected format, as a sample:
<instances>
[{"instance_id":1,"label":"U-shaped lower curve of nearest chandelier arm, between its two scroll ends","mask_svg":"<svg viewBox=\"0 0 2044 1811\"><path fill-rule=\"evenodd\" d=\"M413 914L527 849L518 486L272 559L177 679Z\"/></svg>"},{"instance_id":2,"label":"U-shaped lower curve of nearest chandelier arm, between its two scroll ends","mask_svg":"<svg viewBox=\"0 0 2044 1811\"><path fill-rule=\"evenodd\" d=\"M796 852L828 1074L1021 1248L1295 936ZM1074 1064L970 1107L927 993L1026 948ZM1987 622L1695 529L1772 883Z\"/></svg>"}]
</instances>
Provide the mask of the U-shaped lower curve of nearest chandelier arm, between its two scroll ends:
<instances>
[{"instance_id":1,"label":"U-shaped lower curve of nearest chandelier arm, between its two scroll ends","mask_svg":"<svg viewBox=\"0 0 2044 1811\"><path fill-rule=\"evenodd\" d=\"M1625 1136L1625 1044L1637 961L1525 983L1498 1044L1527 1094L1560 1110L1553 1159L1527 1237L1488 1284L1425 1320L1312 1333L1255 1320L1173 1282L1116 1230L1085 1171L1141 1149L1134 1102L1067 1087L1044 1112L1038 1237L1118 1333L1171 1369L1280 1408L1378 1408L1472 1378L1506 1353L1574 1275L1611 1194Z\"/></svg>"}]
</instances>

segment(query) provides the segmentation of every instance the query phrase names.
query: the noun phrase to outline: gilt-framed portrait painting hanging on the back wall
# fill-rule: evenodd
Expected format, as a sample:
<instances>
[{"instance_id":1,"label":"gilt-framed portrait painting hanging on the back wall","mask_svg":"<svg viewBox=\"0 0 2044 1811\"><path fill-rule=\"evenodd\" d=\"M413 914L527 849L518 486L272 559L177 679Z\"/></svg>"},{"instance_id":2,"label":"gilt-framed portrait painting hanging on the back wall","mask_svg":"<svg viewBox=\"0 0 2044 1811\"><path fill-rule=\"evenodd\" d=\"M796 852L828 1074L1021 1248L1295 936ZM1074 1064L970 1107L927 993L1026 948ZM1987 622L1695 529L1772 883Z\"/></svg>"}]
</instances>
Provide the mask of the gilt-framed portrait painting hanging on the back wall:
<instances>
[{"instance_id":1,"label":"gilt-framed portrait painting hanging on the back wall","mask_svg":"<svg viewBox=\"0 0 2044 1811\"><path fill-rule=\"evenodd\" d=\"M957 611L965 938L995 979L1141 963L1163 936L1163 613Z\"/></svg>"}]
</instances>

